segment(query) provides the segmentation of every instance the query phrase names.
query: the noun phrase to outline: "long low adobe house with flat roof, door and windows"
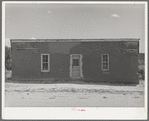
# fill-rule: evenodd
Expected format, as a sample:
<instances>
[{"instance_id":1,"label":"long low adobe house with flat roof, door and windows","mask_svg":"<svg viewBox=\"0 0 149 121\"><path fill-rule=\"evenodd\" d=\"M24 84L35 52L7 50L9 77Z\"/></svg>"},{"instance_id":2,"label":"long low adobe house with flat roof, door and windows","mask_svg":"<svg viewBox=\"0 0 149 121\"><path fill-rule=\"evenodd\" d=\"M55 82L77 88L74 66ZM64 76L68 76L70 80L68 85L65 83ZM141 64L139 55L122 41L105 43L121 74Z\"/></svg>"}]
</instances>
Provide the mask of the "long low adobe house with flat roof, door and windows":
<instances>
[{"instance_id":1,"label":"long low adobe house with flat roof, door and windows","mask_svg":"<svg viewBox=\"0 0 149 121\"><path fill-rule=\"evenodd\" d=\"M13 79L139 83L139 39L11 39Z\"/></svg>"}]
</instances>

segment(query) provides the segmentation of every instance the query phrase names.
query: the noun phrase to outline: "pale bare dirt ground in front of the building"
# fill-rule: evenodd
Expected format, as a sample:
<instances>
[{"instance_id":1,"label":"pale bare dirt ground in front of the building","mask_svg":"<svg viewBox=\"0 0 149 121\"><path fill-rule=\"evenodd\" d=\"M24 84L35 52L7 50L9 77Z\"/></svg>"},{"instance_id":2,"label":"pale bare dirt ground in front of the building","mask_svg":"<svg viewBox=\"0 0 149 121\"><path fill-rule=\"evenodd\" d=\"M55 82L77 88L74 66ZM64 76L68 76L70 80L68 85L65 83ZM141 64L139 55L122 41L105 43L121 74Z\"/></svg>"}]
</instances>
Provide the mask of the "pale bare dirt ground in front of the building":
<instances>
[{"instance_id":1,"label":"pale bare dirt ground in front of the building","mask_svg":"<svg viewBox=\"0 0 149 121\"><path fill-rule=\"evenodd\" d=\"M6 107L143 107L144 81L138 85L101 83L19 83L6 80Z\"/></svg>"}]
</instances>

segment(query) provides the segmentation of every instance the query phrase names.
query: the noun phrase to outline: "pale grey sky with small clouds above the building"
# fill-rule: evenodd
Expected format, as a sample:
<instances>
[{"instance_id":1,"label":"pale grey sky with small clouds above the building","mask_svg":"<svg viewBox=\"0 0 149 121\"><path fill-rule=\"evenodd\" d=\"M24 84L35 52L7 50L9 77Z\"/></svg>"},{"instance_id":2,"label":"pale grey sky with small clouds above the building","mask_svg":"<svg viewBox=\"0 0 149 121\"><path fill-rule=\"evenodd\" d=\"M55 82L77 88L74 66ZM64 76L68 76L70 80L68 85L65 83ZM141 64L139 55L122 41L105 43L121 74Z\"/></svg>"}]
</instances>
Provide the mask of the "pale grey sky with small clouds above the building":
<instances>
[{"instance_id":1,"label":"pale grey sky with small clouds above the building","mask_svg":"<svg viewBox=\"0 0 149 121\"><path fill-rule=\"evenodd\" d=\"M5 38L140 38L145 51L144 4L6 4Z\"/></svg>"}]
</instances>

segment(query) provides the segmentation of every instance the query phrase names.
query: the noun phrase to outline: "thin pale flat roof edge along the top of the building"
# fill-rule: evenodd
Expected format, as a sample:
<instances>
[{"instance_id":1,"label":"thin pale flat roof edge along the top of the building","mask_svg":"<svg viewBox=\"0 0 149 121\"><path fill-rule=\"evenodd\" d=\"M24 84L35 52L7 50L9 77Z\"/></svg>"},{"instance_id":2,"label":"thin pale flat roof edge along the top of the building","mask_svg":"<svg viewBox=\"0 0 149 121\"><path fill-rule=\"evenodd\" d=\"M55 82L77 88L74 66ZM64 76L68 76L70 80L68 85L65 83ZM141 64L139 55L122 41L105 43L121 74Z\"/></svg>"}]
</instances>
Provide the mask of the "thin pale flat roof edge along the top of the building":
<instances>
[{"instance_id":1,"label":"thin pale flat roof edge along the top of the building","mask_svg":"<svg viewBox=\"0 0 149 121\"><path fill-rule=\"evenodd\" d=\"M10 39L11 42L100 42L100 41L139 41L139 38L108 39Z\"/></svg>"}]
</instances>

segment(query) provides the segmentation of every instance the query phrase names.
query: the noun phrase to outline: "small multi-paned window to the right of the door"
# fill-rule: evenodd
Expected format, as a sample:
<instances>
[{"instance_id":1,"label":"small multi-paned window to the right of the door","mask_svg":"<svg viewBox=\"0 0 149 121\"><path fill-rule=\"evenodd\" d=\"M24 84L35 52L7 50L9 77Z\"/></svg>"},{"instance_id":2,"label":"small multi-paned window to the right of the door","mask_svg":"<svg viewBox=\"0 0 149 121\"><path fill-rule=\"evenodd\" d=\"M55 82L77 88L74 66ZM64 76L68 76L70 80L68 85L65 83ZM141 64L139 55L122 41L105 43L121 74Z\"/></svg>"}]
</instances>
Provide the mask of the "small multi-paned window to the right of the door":
<instances>
[{"instance_id":1,"label":"small multi-paned window to the right of the door","mask_svg":"<svg viewBox=\"0 0 149 121\"><path fill-rule=\"evenodd\" d=\"M109 70L109 55L102 54L102 70Z\"/></svg>"}]
</instances>

